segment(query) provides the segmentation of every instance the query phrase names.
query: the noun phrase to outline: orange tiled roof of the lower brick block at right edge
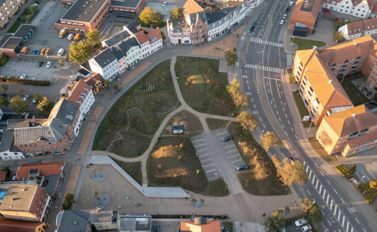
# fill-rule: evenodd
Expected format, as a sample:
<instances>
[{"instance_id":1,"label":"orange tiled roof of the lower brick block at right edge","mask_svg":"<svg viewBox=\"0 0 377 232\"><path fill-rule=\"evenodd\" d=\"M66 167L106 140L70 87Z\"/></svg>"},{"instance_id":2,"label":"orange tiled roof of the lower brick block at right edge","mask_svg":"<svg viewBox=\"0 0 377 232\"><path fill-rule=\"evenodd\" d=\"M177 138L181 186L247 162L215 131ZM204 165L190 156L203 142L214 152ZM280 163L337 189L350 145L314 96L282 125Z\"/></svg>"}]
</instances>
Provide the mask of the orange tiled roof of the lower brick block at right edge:
<instances>
[{"instance_id":1,"label":"orange tiled roof of the lower brick block at right edge","mask_svg":"<svg viewBox=\"0 0 377 232\"><path fill-rule=\"evenodd\" d=\"M353 117L352 114L356 114L356 116ZM377 125L377 116L365 105L359 105L349 110L332 114L323 118L323 120L339 137Z\"/></svg>"}]
</instances>

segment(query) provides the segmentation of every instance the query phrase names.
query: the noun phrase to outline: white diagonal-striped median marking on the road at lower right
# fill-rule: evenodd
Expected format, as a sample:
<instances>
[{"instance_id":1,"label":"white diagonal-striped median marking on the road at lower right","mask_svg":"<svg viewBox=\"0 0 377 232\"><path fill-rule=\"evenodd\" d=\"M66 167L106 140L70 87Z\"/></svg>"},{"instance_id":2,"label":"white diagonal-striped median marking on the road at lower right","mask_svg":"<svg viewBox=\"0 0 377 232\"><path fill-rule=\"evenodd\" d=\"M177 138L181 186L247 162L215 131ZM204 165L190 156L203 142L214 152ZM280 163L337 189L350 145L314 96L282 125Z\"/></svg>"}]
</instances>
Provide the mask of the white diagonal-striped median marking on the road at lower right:
<instances>
[{"instance_id":1,"label":"white diagonal-striped median marking on the road at lower right","mask_svg":"<svg viewBox=\"0 0 377 232\"><path fill-rule=\"evenodd\" d=\"M332 214L331 217L334 217L335 218L334 220L337 220L339 222L339 224L343 227L345 232L353 232L354 228L352 227L351 223L349 223L348 219L343 214L343 212L341 211L337 203L330 196L327 189L322 185L322 183L320 182L316 174L314 174L314 171L308 166L308 164L305 161L303 162L303 169L308 174L308 181L313 185L313 187L316 189L317 193L319 194L320 198L322 198L323 202L331 211L331 214ZM317 202L317 203L321 205L320 202ZM357 211L355 207L348 208L348 210L351 213L354 213Z\"/></svg>"}]
</instances>

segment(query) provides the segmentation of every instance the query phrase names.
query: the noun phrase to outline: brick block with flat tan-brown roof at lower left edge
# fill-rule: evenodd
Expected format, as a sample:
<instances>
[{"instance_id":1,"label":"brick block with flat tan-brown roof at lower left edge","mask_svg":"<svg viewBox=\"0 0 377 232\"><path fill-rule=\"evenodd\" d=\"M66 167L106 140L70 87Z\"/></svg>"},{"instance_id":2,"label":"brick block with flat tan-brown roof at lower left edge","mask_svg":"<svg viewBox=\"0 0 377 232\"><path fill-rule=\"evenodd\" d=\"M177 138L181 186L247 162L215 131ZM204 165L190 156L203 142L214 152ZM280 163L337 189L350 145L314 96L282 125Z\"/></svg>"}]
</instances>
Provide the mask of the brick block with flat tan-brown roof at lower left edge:
<instances>
[{"instance_id":1,"label":"brick block with flat tan-brown roof at lower left edge","mask_svg":"<svg viewBox=\"0 0 377 232\"><path fill-rule=\"evenodd\" d=\"M0 205L0 214L7 219L44 221L51 197L38 185L10 185Z\"/></svg>"}]
</instances>

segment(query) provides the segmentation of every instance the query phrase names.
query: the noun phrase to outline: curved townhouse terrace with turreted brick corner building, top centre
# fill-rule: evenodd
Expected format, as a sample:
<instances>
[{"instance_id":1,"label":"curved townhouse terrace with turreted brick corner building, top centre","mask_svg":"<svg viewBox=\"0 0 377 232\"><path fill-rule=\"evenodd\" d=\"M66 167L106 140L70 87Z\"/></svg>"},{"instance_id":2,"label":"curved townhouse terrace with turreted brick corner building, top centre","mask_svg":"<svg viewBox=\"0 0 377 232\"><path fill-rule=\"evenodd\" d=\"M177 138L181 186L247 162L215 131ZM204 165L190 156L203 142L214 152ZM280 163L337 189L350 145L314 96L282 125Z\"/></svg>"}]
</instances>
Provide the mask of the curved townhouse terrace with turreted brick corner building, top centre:
<instances>
[{"instance_id":1,"label":"curved townhouse terrace with turreted brick corner building, top centre","mask_svg":"<svg viewBox=\"0 0 377 232\"><path fill-rule=\"evenodd\" d=\"M187 0L182 7L184 17L167 20L170 43L200 44L210 41L241 22L253 8L247 1L228 1L221 9L207 14L194 0Z\"/></svg>"}]
</instances>

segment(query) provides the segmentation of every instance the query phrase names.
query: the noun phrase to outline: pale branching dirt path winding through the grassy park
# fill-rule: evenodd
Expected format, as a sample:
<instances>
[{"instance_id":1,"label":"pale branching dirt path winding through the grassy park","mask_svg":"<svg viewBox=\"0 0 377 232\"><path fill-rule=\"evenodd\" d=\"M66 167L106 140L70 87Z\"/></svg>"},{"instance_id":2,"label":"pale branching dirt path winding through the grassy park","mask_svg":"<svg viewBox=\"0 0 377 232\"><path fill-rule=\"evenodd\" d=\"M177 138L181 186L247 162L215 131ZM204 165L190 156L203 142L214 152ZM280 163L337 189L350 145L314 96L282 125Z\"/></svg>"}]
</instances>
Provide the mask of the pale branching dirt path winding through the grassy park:
<instances>
[{"instance_id":1,"label":"pale branching dirt path winding through the grassy park","mask_svg":"<svg viewBox=\"0 0 377 232\"><path fill-rule=\"evenodd\" d=\"M170 64L170 72L172 73L172 78L173 78L173 83L174 83L174 89L175 89L175 92L176 92L176 94L178 96L179 102L181 102L181 106L178 107L178 108L176 108L175 110L171 111L169 114L166 115L166 117L164 118L164 120L161 122L161 125L159 126L158 130L156 131L155 135L153 136L153 139L150 142L148 149L141 156L135 157L135 158L125 158L125 157L122 157L122 156L118 156L117 154L108 152L108 151L91 151L90 152L90 154L93 155L93 156L96 156L96 155L97 156L98 155L101 155L101 156L107 155L107 156L110 156L110 157L112 157L114 159L121 160L121 161L124 161L124 162L137 162L137 161L141 161L141 172L143 174L143 184L147 184L148 183L148 179L147 179L147 159L149 157L149 154L152 152L152 149L153 149L154 145L156 144L156 142L158 140L158 137L160 137L162 131L164 130L166 124L179 111L181 111L181 110L187 110L190 113L195 114L196 116L198 116L200 122L202 123L202 126L204 128L204 132L205 133L210 132L210 129L209 129L208 125L207 125L207 122L205 121L205 119L207 119L207 118L215 118L215 119L222 119L222 120L227 120L227 121L238 122L237 119L232 118L232 117L220 116L220 115L214 115L214 114L200 113L200 112L198 112L196 110L193 110L193 108L191 108L189 105L187 105L187 103L183 99L181 90L179 89L179 84L178 84L178 81L177 81L177 76L175 75L174 66L175 66L176 61L177 61L177 57L176 56L172 57L172 63Z\"/></svg>"}]
</instances>

